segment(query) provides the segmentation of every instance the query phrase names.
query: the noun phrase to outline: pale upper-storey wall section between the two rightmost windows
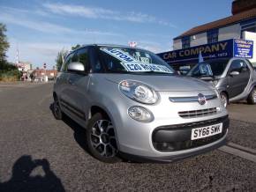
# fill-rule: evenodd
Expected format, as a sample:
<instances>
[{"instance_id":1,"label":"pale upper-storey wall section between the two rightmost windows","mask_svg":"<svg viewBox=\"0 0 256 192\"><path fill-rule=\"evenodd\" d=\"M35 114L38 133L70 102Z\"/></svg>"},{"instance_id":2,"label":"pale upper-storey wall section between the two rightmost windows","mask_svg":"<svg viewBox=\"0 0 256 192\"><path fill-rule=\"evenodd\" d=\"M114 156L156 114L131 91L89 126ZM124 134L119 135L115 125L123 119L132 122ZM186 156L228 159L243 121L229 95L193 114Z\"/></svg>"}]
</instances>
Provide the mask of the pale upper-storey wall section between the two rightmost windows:
<instances>
[{"instance_id":1,"label":"pale upper-storey wall section between the two rightmost windows","mask_svg":"<svg viewBox=\"0 0 256 192\"><path fill-rule=\"evenodd\" d=\"M225 41L225 40L230 40L234 38L240 39L240 32L241 32L240 24L219 28L218 41Z\"/></svg>"}]
</instances>

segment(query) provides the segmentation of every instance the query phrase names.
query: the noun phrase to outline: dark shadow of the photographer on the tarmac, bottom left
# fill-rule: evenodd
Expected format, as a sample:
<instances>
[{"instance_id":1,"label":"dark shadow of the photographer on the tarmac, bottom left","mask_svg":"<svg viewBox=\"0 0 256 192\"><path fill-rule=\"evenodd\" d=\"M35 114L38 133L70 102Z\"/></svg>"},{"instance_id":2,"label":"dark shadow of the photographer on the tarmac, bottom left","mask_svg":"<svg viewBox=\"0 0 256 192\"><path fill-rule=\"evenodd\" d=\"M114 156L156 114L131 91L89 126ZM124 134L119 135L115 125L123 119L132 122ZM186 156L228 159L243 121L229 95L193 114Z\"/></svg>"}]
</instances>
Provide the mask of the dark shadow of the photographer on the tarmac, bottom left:
<instances>
[{"instance_id":1,"label":"dark shadow of the photographer on the tarmac, bottom left","mask_svg":"<svg viewBox=\"0 0 256 192\"><path fill-rule=\"evenodd\" d=\"M62 192L65 190L61 180L50 169L47 159L32 159L29 155L23 155L12 166L11 179L0 182L0 191Z\"/></svg>"}]
</instances>

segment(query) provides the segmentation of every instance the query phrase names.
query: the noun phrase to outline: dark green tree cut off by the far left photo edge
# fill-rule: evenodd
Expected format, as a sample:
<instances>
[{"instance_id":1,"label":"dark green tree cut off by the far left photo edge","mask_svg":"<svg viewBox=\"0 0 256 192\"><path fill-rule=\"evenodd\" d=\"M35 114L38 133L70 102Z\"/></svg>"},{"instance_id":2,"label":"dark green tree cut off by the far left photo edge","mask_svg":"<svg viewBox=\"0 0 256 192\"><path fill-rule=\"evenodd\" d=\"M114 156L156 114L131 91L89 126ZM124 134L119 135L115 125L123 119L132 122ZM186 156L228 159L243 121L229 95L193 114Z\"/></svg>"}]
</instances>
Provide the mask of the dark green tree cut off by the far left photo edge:
<instances>
[{"instance_id":1,"label":"dark green tree cut off by the far left photo edge","mask_svg":"<svg viewBox=\"0 0 256 192\"><path fill-rule=\"evenodd\" d=\"M5 25L0 23L0 70L4 70L7 65L6 51L10 47L5 35L6 31Z\"/></svg>"}]
</instances>

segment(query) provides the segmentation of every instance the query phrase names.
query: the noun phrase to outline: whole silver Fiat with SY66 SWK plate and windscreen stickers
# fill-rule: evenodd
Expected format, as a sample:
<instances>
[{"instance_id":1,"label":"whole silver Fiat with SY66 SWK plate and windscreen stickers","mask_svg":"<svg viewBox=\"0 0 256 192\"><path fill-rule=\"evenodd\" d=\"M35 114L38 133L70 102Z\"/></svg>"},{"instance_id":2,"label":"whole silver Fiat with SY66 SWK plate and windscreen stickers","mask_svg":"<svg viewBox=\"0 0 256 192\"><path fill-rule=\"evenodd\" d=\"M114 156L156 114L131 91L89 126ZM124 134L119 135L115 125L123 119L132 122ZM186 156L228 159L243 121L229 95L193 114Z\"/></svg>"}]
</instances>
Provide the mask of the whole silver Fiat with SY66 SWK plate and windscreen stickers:
<instances>
[{"instance_id":1,"label":"whole silver Fiat with SY66 SWK plate and windscreen stickers","mask_svg":"<svg viewBox=\"0 0 256 192\"><path fill-rule=\"evenodd\" d=\"M104 162L172 161L225 144L229 117L219 92L181 77L141 48L88 45L66 56L53 91L56 119L87 129Z\"/></svg>"}]
</instances>

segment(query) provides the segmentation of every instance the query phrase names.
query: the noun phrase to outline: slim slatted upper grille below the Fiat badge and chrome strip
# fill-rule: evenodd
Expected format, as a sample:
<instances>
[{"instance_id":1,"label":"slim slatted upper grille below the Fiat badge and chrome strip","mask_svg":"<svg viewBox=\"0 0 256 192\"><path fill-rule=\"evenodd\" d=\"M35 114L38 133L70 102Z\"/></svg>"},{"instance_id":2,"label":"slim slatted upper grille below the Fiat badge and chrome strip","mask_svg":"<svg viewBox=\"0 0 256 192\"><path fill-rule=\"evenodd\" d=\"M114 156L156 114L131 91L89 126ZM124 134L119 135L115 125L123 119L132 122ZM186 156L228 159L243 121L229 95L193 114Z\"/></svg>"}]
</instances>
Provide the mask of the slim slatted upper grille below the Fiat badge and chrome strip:
<instances>
[{"instance_id":1,"label":"slim slatted upper grille below the Fiat badge and chrome strip","mask_svg":"<svg viewBox=\"0 0 256 192\"><path fill-rule=\"evenodd\" d=\"M213 108L206 108L206 109L200 109L200 110L192 110L192 111L180 111L178 112L178 115L182 118L197 118L202 116L208 116L212 114L217 114L218 110L217 107Z\"/></svg>"}]
</instances>

